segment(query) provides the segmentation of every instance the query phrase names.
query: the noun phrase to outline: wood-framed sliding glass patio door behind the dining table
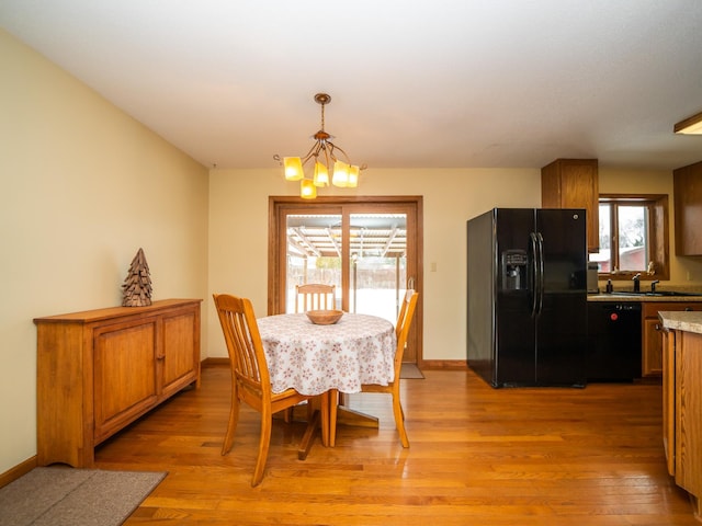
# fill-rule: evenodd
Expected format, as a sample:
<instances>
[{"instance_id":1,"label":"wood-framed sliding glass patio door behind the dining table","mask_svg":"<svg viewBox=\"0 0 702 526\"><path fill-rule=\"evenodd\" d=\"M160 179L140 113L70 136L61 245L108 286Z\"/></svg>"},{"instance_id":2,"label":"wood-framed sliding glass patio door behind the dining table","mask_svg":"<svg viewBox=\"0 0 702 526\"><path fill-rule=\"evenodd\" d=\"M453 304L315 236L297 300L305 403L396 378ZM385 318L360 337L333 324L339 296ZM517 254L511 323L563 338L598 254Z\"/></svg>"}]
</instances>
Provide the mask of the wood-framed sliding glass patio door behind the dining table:
<instances>
[{"instance_id":1,"label":"wood-framed sliding glass patio door behind the dining table","mask_svg":"<svg viewBox=\"0 0 702 526\"><path fill-rule=\"evenodd\" d=\"M336 308L394 324L408 286L420 287L420 204L332 201L281 203L273 213L275 232L270 237L278 253L269 272L269 313L295 311L296 285L327 284L336 286ZM417 363L421 355L420 327L418 308L406 362Z\"/></svg>"}]
</instances>

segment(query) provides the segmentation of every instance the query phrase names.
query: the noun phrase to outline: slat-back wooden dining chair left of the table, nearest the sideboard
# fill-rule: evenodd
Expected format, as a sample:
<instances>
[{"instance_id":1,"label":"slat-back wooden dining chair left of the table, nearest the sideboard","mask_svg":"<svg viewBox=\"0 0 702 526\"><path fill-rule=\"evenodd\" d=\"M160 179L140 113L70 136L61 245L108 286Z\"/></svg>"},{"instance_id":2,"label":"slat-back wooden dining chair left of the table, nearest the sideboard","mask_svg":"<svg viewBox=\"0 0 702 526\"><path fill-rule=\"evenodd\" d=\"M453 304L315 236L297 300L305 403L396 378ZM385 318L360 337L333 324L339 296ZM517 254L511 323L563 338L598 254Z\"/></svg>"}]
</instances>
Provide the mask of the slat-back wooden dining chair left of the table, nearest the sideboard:
<instances>
[{"instance_id":1,"label":"slat-back wooden dining chair left of the table, nearest the sideboard","mask_svg":"<svg viewBox=\"0 0 702 526\"><path fill-rule=\"evenodd\" d=\"M251 478L251 485L254 487L263 479L273 414L310 397L299 395L294 389L280 393L271 390L265 353L251 301L227 294L214 294L213 298L231 364L231 408L222 455L229 453L234 444L239 421L239 403L245 402L259 411L261 413L259 456Z\"/></svg>"}]
</instances>

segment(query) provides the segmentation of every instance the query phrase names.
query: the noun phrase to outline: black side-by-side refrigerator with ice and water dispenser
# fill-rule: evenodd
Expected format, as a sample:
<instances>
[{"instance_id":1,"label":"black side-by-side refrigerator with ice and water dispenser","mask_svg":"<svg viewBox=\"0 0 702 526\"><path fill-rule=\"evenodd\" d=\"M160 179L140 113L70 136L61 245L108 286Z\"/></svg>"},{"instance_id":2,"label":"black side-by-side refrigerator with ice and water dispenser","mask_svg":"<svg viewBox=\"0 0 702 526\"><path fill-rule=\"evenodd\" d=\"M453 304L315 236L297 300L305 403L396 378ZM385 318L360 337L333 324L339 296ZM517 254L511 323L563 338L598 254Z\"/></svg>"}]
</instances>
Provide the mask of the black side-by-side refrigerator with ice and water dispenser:
<instances>
[{"instance_id":1,"label":"black side-by-side refrigerator with ice and water dispenser","mask_svg":"<svg viewBox=\"0 0 702 526\"><path fill-rule=\"evenodd\" d=\"M492 387L586 385L584 209L494 208L467 222L467 361Z\"/></svg>"}]
</instances>

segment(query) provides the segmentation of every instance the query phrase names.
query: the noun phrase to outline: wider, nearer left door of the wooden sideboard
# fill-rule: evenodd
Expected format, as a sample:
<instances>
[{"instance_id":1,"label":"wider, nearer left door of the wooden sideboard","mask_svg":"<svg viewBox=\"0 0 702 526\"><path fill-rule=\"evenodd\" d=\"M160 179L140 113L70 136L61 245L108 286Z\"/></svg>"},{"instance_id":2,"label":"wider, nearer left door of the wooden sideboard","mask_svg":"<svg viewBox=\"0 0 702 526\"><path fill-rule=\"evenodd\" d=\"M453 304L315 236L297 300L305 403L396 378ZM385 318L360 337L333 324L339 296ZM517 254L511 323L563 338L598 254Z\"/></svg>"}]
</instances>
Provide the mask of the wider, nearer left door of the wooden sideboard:
<instances>
[{"instance_id":1,"label":"wider, nearer left door of the wooden sideboard","mask_svg":"<svg viewBox=\"0 0 702 526\"><path fill-rule=\"evenodd\" d=\"M156 403L157 324L157 318L146 318L93 332L95 444Z\"/></svg>"}]
</instances>

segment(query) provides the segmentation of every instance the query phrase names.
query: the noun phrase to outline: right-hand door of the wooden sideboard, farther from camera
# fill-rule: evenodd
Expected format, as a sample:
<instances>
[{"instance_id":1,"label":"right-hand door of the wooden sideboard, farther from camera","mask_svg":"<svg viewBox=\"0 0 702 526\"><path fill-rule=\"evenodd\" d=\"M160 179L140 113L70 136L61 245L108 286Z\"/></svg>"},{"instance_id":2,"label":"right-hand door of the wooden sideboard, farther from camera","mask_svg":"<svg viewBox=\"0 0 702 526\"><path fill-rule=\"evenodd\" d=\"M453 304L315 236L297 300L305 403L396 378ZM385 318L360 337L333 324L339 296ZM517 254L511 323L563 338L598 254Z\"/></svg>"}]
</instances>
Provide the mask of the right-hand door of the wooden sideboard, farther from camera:
<instances>
[{"instance_id":1,"label":"right-hand door of the wooden sideboard, farther from camera","mask_svg":"<svg viewBox=\"0 0 702 526\"><path fill-rule=\"evenodd\" d=\"M199 312L191 308L163 317L163 344L157 355L162 396L170 396L200 377Z\"/></svg>"}]
</instances>

